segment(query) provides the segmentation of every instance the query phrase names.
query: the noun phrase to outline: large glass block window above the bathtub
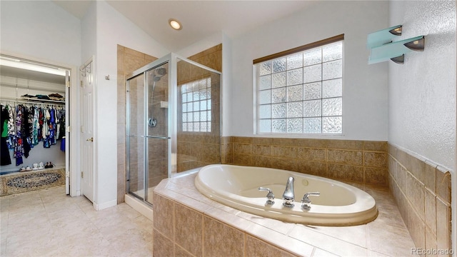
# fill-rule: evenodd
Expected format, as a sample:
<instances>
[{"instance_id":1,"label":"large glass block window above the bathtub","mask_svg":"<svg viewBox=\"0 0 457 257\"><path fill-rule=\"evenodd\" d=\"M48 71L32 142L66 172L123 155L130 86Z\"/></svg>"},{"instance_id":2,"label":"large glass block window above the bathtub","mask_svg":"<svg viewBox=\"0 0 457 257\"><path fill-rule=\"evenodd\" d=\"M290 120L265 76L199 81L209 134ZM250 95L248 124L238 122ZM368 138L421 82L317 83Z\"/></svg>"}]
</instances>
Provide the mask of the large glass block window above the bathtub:
<instances>
[{"instance_id":1,"label":"large glass block window above the bathtub","mask_svg":"<svg viewBox=\"0 0 457 257\"><path fill-rule=\"evenodd\" d=\"M342 133L343 41L256 63L257 133Z\"/></svg>"}]
</instances>

